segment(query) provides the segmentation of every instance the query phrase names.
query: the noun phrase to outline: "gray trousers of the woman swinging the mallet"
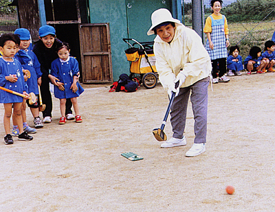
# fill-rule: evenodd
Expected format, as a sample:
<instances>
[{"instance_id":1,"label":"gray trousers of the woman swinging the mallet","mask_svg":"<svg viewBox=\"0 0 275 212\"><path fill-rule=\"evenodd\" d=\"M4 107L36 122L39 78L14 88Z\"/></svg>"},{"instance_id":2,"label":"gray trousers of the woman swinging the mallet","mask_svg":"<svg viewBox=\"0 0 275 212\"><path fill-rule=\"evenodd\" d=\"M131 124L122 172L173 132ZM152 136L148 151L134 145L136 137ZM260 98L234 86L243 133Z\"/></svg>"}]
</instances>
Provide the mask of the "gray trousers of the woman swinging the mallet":
<instances>
[{"instance_id":1,"label":"gray trousers of the woman swinging the mallet","mask_svg":"<svg viewBox=\"0 0 275 212\"><path fill-rule=\"evenodd\" d=\"M206 143L209 80L209 77L204 78L191 86L179 89L179 95L175 97L170 112L173 138L182 139L184 137L188 99L190 91L192 91L190 100L195 120L194 143Z\"/></svg>"}]
</instances>

